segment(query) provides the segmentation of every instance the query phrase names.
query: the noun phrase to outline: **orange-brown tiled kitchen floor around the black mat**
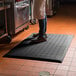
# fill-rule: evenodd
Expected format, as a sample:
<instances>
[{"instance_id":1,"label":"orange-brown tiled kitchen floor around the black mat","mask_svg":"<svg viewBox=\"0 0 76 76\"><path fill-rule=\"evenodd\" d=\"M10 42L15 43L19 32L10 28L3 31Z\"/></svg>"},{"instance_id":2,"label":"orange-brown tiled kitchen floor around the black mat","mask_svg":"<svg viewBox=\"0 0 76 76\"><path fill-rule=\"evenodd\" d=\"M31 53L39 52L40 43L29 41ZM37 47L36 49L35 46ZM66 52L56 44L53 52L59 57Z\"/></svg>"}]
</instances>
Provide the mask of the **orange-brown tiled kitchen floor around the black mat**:
<instances>
[{"instance_id":1,"label":"orange-brown tiled kitchen floor around the black mat","mask_svg":"<svg viewBox=\"0 0 76 76\"><path fill-rule=\"evenodd\" d=\"M76 76L76 6L72 7L60 8L54 17L48 19L47 24L47 33L74 35L62 63L2 57L31 33L38 32L38 24L30 25L28 30L14 37L10 44L0 44L0 76L39 76L41 71L50 72L50 76Z\"/></svg>"}]
</instances>

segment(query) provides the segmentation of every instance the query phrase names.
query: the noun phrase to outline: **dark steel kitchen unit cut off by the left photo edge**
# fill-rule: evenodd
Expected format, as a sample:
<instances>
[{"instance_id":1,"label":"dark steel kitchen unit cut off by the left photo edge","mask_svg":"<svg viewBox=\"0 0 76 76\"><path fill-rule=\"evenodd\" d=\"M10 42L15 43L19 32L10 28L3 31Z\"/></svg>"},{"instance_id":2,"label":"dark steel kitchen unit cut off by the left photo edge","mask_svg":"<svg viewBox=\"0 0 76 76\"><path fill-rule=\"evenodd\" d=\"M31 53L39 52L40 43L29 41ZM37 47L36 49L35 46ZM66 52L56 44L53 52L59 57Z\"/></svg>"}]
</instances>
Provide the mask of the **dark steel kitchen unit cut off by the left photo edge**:
<instances>
[{"instance_id":1,"label":"dark steel kitchen unit cut off by the left photo edge","mask_svg":"<svg viewBox=\"0 0 76 76\"><path fill-rule=\"evenodd\" d=\"M0 43L3 43L2 40L6 39L6 42L11 41L11 37L8 34L8 25L7 25L7 9L10 8L10 5L5 3L5 0L0 0ZM4 42L4 43L6 43Z\"/></svg>"}]
</instances>

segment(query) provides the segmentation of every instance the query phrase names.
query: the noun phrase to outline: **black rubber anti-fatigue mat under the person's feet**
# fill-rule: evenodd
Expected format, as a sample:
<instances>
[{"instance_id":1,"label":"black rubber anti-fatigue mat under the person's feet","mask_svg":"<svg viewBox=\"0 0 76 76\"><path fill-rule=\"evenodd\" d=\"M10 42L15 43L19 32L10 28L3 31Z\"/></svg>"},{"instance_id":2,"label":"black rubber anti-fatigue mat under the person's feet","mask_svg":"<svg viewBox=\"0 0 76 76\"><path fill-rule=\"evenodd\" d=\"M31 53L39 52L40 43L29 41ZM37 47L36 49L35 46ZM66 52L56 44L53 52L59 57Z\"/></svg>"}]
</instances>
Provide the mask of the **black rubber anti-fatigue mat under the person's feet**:
<instances>
[{"instance_id":1,"label":"black rubber anti-fatigue mat under the person's feet","mask_svg":"<svg viewBox=\"0 0 76 76\"><path fill-rule=\"evenodd\" d=\"M47 34L46 42L31 43L32 35L14 47L4 57L62 62L73 35Z\"/></svg>"}]
</instances>

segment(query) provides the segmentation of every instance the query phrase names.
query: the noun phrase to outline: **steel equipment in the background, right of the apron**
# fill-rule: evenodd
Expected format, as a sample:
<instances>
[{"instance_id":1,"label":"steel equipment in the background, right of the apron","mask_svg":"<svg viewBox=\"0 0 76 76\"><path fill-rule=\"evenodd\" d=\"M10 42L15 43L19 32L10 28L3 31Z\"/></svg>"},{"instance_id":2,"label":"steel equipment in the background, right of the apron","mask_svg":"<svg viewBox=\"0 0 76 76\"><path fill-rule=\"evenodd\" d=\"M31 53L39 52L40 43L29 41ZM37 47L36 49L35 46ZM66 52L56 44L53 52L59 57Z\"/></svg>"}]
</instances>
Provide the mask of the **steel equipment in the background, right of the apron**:
<instances>
[{"instance_id":1,"label":"steel equipment in the background, right of the apron","mask_svg":"<svg viewBox=\"0 0 76 76\"><path fill-rule=\"evenodd\" d=\"M59 8L59 0L47 0L46 1L46 14L47 16L53 16L56 14Z\"/></svg>"}]
</instances>

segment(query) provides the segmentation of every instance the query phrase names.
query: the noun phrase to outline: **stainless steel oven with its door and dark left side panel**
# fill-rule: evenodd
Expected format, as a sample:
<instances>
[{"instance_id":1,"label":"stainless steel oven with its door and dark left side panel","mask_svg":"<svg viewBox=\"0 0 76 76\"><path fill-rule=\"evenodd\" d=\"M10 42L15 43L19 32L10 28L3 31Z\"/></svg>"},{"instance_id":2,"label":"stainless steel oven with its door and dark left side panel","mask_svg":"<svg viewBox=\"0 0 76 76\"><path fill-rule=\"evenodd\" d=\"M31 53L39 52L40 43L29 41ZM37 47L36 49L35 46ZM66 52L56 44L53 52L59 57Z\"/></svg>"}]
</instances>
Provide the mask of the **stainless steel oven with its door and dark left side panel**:
<instances>
[{"instance_id":1,"label":"stainless steel oven with its door and dark left side panel","mask_svg":"<svg viewBox=\"0 0 76 76\"><path fill-rule=\"evenodd\" d=\"M29 0L10 0L11 8L8 11L11 35L23 30L29 23Z\"/></svg>"}]
</instances>

